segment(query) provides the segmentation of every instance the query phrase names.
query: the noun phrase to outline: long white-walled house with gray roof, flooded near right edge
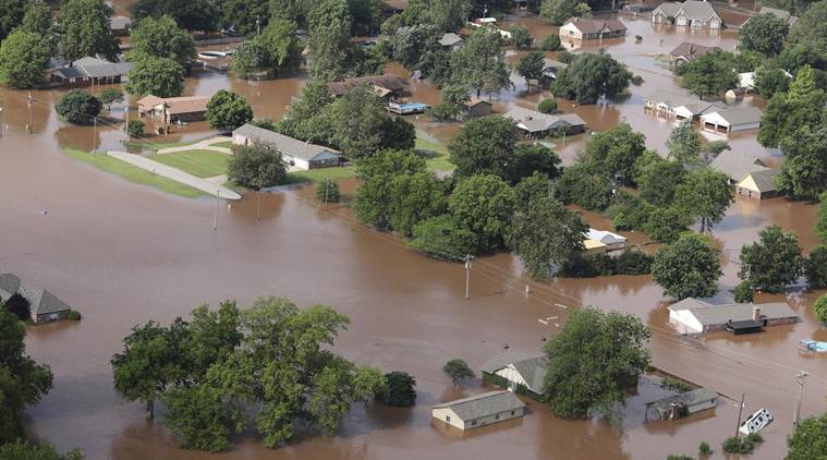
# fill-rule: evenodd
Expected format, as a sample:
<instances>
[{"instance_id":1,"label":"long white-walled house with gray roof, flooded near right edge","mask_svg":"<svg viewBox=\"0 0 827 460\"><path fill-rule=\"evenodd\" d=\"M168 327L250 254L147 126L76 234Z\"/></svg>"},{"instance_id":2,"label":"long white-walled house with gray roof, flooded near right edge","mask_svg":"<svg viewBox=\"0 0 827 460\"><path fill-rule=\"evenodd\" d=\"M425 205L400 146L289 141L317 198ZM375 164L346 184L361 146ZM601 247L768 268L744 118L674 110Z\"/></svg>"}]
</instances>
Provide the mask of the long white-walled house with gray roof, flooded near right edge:
<instances>
[{"instance_id":1,"label":"long white-walled house with gray roof, flooded near right edge","mask_svg":"<svg viewBox=\"0 0 827 460\"><path fill-rule=\"evenodd\" d=\"M681 334L725 330L734 322L759 322L762 326L774 326L798 323L799 316L786 302L713 305L688 298L669 306L669 323Z\"/></svg>"}]
</instances>

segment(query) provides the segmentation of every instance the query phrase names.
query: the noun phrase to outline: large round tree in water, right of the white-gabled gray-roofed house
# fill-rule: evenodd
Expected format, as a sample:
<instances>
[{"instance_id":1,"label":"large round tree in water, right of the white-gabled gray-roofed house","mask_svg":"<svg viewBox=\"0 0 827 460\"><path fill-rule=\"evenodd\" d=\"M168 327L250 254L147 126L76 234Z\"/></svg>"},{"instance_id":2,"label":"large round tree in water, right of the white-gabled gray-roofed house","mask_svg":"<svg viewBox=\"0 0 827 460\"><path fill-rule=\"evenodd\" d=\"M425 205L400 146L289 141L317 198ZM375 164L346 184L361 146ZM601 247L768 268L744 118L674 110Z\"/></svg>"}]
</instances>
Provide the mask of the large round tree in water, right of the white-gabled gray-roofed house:
<instances>
[{"instance_id":1,"label":"large round tree in water, right of the white-gabled gray-roofed house","mask_svg":"<svg viewBox=\"0 0 827 460\"><path fill-rule=\"evenodd\" d=\"M557 416L585 419L623 403L627 387L649 364L652 332L636 316L574 310L560 334L543 347L548 356L544 396Z\"/></svg>"}]
</instances>

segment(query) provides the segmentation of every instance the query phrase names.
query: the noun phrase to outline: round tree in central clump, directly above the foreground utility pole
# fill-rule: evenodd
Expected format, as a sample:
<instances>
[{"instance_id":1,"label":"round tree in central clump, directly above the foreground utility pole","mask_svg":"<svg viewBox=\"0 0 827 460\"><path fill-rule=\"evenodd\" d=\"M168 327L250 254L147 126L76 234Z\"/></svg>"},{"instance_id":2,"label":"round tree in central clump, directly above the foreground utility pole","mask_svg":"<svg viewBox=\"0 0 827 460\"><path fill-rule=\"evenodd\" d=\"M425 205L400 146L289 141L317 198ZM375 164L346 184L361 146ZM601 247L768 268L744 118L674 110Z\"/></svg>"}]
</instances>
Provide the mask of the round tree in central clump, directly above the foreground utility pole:
<instances>
[{"instance_id":1,"label":"round tree in central clump, directly above the foreground utility pole","mask_svg":"<svg viewBox=\"0 0 827 460\"><path fill-rule=\"evenodd\" d=\"M476 253L503 246L513 208L514 191L491 174L462 180L448 198L448 209L457 223L476 235Z\"/></svg>"}]
</instances>

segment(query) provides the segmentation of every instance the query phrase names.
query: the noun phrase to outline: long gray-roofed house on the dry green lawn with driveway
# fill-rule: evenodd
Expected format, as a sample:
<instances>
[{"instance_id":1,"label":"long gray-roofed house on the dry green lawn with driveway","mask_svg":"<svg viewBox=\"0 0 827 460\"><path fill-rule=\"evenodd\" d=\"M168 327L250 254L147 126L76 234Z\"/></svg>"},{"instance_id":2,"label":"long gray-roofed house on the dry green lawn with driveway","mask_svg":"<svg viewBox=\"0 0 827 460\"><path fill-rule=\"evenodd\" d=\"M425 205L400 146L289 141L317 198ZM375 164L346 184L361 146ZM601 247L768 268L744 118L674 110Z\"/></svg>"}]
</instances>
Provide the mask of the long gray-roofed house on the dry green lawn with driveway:
<instances>
[{"instance_id":1,"label":"long gray-roofed house on the dry green lawn with driveway","mask_svg":"<svg viewBox=\"0 0 827 460\"><path fill-rule=\"evenodd\" d=\"M235 145L270 144L281 153L281 159L288 167L293 169L308 170L339 166L342 159L342 155L332 148L299 141L250 123L232 132L232 143Z\"/></svg>"}]
</instances>

